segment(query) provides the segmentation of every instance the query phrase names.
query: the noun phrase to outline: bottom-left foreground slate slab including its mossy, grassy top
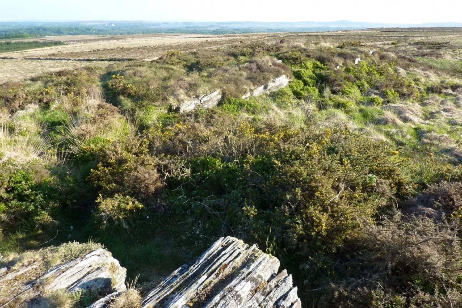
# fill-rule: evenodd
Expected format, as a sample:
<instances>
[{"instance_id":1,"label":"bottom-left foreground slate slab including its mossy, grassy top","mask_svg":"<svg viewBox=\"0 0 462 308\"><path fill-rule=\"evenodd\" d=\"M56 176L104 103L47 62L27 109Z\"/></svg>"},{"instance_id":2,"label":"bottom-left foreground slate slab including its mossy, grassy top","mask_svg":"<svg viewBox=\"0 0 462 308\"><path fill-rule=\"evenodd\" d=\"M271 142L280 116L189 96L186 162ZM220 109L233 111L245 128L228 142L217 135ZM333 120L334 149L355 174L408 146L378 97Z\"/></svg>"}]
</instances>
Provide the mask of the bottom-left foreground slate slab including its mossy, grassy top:
<instances>
[{"instance_id":1,"label":"bottom-left foreground slate slab including its mossy, grassy top","mask_svg":"<svg viewBox=\"0 0 462 308\"><path fill-rule=\"evenodd\" d=\"M126 290L127 270L108 251L97 244L69 243L60 247L29 252L8 262L0 276L0 307L18 307L57 290ZM97 249L88 252L91 248ZM74 256L76 250L81 255L67 261L67 256ZM55 266L48 269L47 264L53 259L61 262L55 261Z\"/></svg>"}]
</instances>

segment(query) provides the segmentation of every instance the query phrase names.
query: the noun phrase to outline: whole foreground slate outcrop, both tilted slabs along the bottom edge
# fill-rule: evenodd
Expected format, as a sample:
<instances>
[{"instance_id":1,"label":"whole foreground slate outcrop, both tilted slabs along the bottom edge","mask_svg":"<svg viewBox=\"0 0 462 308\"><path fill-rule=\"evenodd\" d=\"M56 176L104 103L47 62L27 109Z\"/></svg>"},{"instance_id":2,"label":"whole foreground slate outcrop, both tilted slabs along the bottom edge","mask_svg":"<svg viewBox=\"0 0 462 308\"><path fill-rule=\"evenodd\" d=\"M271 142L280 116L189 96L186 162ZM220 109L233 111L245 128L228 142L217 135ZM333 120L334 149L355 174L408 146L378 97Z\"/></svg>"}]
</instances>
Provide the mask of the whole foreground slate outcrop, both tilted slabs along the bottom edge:
<instances>
[{"instance_id":1,"label":"whole foreground slate outcrop, both tilted slabs along the bottom edge","mask_svg":"<svg viewBox=\"0 0 462 308\"><path fill-rule=\"evenodd\" d=\"M32 260L27 266L0 271L1 308L44 307L42 300L50 292L85 289L102 296L88 308L108 308L132 293L142 308L301 308L292 276L286 270L278 274L279 260L233 237L217 240L143 298L137 290L127 290L125 268L102 248L48 271L41 271L43 259Z\"/></svg>"}]
</instances>

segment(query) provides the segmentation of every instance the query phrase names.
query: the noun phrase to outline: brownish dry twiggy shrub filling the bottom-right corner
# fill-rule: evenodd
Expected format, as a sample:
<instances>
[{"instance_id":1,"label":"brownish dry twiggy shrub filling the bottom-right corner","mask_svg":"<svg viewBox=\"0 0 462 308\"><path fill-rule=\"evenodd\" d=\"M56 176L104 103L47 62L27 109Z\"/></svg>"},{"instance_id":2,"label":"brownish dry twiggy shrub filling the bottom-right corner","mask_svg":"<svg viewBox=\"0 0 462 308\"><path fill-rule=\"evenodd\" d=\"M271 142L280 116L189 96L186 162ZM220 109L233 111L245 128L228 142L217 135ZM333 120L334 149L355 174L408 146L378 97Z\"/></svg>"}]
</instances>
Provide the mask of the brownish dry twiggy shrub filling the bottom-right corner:
<instances>
[{"instance_id":1,"label":"brownish dry twiggy shrub filling the bottom-right corner","mask_svg":"<svg viewBox=\"0 0 462 308\"><path fill-rule=\"evenodd\" d=\"M455 261L461 258L460 244L453 244L458 230L454 223L405 219L398 212L366 224L341 249L342 261L312 259L302 268L311 277L325 277L327 290L312 292L320 295L319 307L450 307L450 301L456 307L462 303L462 268ZM320 288L312 281L308 288Z\"/></svg>"}]
</instances>

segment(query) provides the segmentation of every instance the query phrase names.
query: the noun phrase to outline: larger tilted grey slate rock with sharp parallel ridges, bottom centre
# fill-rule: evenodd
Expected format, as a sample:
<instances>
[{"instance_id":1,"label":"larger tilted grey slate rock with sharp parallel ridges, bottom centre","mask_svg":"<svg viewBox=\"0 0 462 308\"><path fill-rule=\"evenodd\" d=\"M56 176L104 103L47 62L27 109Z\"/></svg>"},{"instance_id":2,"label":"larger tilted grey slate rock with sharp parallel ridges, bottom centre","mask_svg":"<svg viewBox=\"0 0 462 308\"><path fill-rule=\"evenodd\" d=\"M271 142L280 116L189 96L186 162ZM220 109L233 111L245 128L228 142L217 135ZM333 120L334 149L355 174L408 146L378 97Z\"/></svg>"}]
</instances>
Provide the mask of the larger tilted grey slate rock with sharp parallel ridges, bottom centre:
<instances>
[{"instance_id":1,"label":"larger tilted grey slate rock with sharp parallel ridges, bottom centre","mask_svg":"<svg viewBox=\"0 0 462 308\"><path fill-rule=\"evenodd\" d=\"M279 260L233 237L217 240L146 294L142 308L301 308Z\"/></svg>"}]
</instances>

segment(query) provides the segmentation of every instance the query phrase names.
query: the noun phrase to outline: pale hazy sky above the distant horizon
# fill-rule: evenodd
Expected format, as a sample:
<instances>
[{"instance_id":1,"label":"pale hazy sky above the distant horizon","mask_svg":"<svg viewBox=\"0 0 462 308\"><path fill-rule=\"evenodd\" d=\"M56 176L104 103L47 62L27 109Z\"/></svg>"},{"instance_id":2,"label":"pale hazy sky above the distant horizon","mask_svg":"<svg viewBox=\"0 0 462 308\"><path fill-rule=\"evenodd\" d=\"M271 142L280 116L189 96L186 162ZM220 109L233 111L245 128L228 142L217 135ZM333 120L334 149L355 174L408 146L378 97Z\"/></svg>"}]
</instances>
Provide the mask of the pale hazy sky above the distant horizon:
<instances>
[{"instance_id":1,"label":"pale hazy sky above the distant horizon","mask_svg":"<svg viewBox=\"0 0 462 308\"><path fill-rule=\"evenodd\" d=\"M462 0L0 0L0 21L462 22Z\"/></svg>"}]
</instances>

